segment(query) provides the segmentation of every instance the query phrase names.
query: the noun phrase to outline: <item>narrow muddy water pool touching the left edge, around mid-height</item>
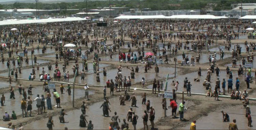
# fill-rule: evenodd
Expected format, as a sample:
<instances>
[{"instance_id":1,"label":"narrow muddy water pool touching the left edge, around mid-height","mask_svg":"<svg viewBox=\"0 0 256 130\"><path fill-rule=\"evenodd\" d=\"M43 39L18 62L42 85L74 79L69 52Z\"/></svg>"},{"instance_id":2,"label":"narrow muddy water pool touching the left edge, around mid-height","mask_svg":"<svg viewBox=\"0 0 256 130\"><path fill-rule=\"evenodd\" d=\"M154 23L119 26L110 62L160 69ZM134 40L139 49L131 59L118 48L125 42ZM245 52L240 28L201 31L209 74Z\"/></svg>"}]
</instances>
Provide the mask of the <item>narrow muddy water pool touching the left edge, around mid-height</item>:
<instances>
[{"instance_id":1,"label":"narrow muddy water pool touching the left edge, around mid-height","mask_svg":"<svg viewBox=\"0 0 256 130\"><path fill-rule=\"evenodd\" d=\"M48 63L48 62L50 62L50 61L36 60L36 62L39 63L39 65L40 65L40 64L43 64L43 63ZM10 61L10 64L11 64L11 69L12 69L12 68L13 68L12 61ZM21 66L22 66L22 67L30 66L30 65L32 65L31 58L29 59L29 64L27 64L27 63L25 62L25 59L23 60L23 62L21 62ZM34 59L33 59L33 65L36 65L35 62L34 62ZM15 62L15 67L18 67L17 59L16 59L16 62ZM0 70L6 70L6 69L8 69L8 68L7 68L7 60L5 61L4 64L3 64L3 63L0 63Z\"/></svg>"}]
</instances>

